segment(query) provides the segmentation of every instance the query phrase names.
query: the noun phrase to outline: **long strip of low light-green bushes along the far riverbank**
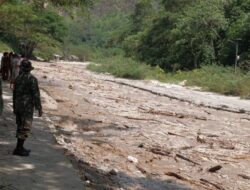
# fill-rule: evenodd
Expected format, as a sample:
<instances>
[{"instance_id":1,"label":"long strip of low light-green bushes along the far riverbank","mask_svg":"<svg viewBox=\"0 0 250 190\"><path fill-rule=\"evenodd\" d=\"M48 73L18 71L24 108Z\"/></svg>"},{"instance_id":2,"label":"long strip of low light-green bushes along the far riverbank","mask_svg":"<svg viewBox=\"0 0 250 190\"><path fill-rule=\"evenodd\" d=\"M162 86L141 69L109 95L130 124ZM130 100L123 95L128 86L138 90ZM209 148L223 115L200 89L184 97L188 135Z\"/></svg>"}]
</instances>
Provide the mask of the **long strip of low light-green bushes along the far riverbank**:
<instances>
[{"instance_id":1,"label":"long strip of low light-green bushes along the far riverbank","mask_svg":"<svg viewBox=\"0 0 250 190\"><path fill-rule=\"evenodd\" d=\"M250 72L244 74L238 70L235 74L232 67L206 65L193 71L165 73L160 67L150 67L121 56L104 59L99 63L101 64L91 64L88 68L92 71L110 73L116 77L129 79L154 79L171 83L186 80L188 86L199 86L203 90L250 98Z\"/></svg>"}]
</instances>

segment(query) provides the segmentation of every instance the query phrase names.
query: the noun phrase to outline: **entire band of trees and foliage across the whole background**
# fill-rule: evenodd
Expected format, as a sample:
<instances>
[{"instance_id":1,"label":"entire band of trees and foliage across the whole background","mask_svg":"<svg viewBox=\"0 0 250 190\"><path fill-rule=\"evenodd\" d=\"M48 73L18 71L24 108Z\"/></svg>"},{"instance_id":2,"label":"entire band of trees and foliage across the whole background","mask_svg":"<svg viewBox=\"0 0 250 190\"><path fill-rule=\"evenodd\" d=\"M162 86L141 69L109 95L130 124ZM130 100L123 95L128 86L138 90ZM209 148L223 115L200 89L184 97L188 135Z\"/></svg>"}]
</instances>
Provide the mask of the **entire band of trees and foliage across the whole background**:
<instances>
[{"instance_id":1,"label":"entire band of trees and foliage across the whole background","mask_svg":"<svg viewBox=\"0 0 250 190\"><path fill-rule=\"evenodd\" d=\"M239 65L249 68L250 0L1 2L0 47L28 56L86 60L125 52L165 71L191 70L234 65L241 39ZM88 12L72 8L91 3Z\"/></svg>"}]
</instances>

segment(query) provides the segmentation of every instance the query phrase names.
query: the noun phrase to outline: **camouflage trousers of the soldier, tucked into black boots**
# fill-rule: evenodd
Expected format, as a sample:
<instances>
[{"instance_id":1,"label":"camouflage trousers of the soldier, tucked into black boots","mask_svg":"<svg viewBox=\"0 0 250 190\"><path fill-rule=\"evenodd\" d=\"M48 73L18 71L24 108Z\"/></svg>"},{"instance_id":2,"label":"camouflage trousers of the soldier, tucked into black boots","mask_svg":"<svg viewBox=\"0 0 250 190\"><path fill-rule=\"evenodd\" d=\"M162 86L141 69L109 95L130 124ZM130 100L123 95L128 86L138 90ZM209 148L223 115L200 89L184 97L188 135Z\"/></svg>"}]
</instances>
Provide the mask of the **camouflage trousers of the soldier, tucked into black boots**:
<instances>
[{"instance_id":1,"label":"camouflage trousers of the soldier, tucked into black boots","mask_svg":"<svg viewBox=\"0 0 250 190\"><path fill-rule=\"evenodd\" d=\"M16 114L17 132L16 138L25 140L31 133L33 118L24 117L22 114Z\"/></svg>"}]
</instances>

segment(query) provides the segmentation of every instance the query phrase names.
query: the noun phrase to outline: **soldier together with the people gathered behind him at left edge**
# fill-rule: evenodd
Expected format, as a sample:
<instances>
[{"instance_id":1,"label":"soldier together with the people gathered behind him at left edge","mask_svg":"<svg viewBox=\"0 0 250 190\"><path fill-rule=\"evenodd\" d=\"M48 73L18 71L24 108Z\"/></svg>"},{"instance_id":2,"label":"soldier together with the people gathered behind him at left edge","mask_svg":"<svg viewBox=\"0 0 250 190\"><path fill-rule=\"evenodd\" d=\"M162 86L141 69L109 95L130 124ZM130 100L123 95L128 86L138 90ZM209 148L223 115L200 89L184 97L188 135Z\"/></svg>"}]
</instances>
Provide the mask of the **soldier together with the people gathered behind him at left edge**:
<instances>
[{"instance_id":1,"label":"soldier together with the people gathered behind him at left edge","mask_svg":"<svg viewBox=\"0 0 250 190\"><path fill-rule=\"evenodd\" d=\"M3 81L10 81L13 89L13 113L17 124L17 145L13 155L29 156L30 150L24 148L24 142L31 133L34 109L42 116L40 90L37 79L31 74L34 69L28 59L21 59L18 54L3 54L1 75ZM3 110L2 80L0 79L0 115Z\"/></svg>"}]
</instances>

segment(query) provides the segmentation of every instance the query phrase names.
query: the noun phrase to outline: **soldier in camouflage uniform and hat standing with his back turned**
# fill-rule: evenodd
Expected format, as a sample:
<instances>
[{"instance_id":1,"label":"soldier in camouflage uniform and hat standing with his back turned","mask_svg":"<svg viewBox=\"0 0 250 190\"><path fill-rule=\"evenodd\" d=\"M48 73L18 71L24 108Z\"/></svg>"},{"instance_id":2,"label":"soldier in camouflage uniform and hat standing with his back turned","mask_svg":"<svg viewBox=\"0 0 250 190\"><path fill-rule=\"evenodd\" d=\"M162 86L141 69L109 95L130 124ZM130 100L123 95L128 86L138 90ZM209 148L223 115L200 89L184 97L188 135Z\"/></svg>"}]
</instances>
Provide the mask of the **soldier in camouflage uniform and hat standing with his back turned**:
<instances>
[{"instance_id":1,"label":"soldier in camouflage uniform and hat standing with his back turned","mask_svg":"<svg viewBox=\"0 0 250 190\"><path fill-rule=\"evenodd\" d=\"M42 106L37 79L30 73L34 69L31 62L23 60L20 68L21 74L15 79L13 91L13 110L17 124L17 146L13 154L29 156L30 150L26 150L23 144L31 132L34 108L41 117Z\"/></svg>"}]
</instances>

